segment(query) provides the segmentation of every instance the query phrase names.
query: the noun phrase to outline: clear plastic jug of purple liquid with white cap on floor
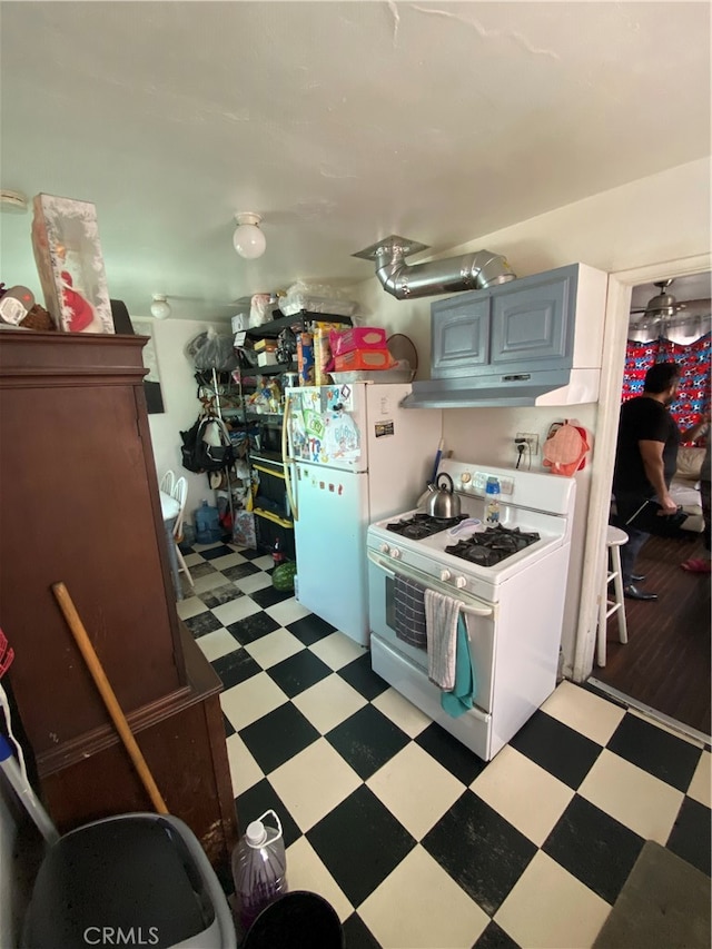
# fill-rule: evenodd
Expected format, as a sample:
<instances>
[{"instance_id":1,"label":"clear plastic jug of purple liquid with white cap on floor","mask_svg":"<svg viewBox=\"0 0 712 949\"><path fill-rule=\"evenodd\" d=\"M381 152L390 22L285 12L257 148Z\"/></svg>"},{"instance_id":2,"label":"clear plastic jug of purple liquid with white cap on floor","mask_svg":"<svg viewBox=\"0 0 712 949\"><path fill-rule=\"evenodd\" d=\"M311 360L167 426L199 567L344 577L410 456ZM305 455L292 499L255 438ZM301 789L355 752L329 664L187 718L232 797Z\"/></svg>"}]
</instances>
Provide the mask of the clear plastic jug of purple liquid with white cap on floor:
<instances>
[{"instance_id":1,"label":"clear plastic jug of purple liquid with white cap on floor","mask_svg":"<svg viewBox=\"0 0 712 949\"><path fill-rule=\"evenodd\" d=\"M277 828L265 827L271 814ZM287 892L287 859L281 823L274 811L247 826L247 831L233 853L233 880L239 919L249 929L257 916Z\"/></svg>"}]
</instances>

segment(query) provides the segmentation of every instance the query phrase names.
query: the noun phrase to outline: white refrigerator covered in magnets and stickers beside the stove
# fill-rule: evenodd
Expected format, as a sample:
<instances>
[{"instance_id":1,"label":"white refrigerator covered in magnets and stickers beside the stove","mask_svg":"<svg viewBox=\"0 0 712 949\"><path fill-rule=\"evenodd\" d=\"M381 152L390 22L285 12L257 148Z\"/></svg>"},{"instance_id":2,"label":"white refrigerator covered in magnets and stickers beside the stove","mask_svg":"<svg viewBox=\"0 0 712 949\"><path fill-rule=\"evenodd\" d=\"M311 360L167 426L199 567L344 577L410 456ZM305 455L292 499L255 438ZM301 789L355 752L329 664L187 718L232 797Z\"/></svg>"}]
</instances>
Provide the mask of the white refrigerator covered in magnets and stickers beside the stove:
<instances>
[{"instance_id":1,"label":"white refrigerator covered in magnets and stickers beside the stove","mask_svg":"<svg viewBox=\"0 0 712 949\"><path fill-rule=\"evenodd\" d=\"M409 384L288 388L283 445L299 602L368 643L366 530L416 503L432 476L439 409L399 407Z\"/></svg>"}]
</instances>

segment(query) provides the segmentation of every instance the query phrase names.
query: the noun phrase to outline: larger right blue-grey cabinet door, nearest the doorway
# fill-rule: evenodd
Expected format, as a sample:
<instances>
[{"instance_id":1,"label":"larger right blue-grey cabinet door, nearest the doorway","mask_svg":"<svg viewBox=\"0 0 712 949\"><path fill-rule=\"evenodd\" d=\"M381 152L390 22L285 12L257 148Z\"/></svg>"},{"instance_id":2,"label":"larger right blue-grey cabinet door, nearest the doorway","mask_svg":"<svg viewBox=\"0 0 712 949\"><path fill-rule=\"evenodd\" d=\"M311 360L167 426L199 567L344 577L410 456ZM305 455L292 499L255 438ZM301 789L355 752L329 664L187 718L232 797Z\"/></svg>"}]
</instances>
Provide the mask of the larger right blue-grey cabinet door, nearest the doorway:
<instances>
[{"instance_id":1,"label":"larger right blue-grey cabinet door, nearest the doorway","mask_svg":"<svg viewBox=\"0 0 712 949\"><path fill-rule=\"evenodd\" d=\"M561 367L561 360L570 358L572 352L572 299L570 276L495 295L491 363ZM544 365L550 360L555 360L554 365Z\"/></svg>"}]
</instances>

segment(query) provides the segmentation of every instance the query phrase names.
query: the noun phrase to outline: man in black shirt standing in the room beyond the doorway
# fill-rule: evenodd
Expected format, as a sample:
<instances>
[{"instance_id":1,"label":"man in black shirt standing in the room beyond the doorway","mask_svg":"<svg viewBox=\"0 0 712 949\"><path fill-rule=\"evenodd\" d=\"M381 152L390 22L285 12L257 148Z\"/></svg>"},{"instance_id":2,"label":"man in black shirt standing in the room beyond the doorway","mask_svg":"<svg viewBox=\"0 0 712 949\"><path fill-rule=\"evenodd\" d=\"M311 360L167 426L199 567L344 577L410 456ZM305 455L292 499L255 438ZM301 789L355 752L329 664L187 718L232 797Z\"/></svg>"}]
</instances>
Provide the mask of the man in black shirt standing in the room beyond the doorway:
<instances>
[{"instance_id":1,"label":"man in black shirt standing in the room beyond the doorway","mask_svg":"<svg viewBox=\"0 0 712 949\"><path fill-rule=\"evenodd\" d=\"M623 594L631 600L657 600L656 593L635 584L644 580L635 574L635 561L650 533L635 525L635 515L646 501L657 498L660 514L670 515L678 505L670 496L670 482L678 466L681 433L670 414L680 384L676 363L656 363L645 374L643 394L623 403L613 473L613 494L617 525L629 536L621 546ZM692 441L702 432L701 422L684 433ZM631 523L629 523L631 522Z\"/></svg>"}]
</instances>

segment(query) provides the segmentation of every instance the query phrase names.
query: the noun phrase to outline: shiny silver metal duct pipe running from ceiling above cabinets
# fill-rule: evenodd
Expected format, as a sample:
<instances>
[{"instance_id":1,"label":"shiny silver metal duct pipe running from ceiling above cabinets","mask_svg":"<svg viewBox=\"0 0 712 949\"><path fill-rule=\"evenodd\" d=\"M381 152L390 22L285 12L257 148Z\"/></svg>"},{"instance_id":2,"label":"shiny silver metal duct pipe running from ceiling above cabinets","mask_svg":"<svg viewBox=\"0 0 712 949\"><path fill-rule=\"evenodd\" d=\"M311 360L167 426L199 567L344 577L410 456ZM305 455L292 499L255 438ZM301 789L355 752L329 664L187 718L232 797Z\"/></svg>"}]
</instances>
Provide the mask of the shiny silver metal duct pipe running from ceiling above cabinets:
<instances>
[{"instance_id":1,"label":"shiny silver metal duct pipe running from ceiling above cabinets","mask_svg":"<svg viewBox=\"0 0 712 949\"><path fill-rule=\"evenodd\" d=\"M506 258L490 250L477 250L445 260L428 260L425 264L405 263L409 254L426 249L423 244L392 235L354 254L354 257L374 259L376 277L383 288L396 299L484 289L516 279L516 274Z\"/></svg>"}]
</instances>

